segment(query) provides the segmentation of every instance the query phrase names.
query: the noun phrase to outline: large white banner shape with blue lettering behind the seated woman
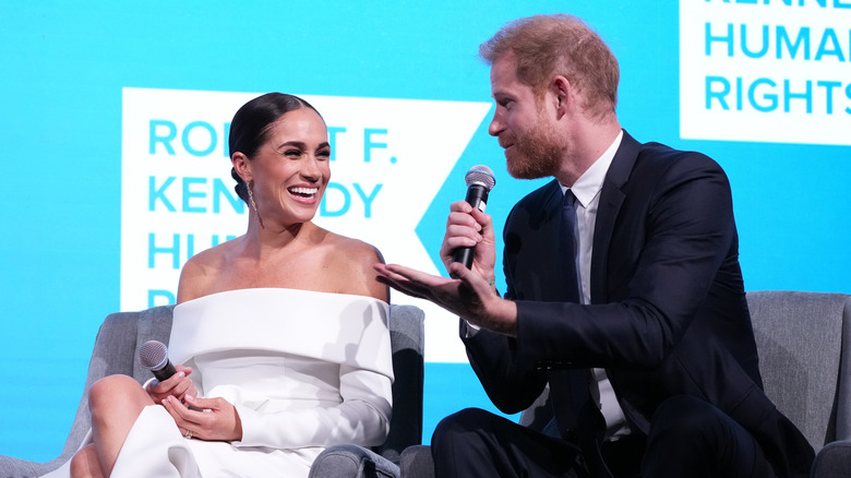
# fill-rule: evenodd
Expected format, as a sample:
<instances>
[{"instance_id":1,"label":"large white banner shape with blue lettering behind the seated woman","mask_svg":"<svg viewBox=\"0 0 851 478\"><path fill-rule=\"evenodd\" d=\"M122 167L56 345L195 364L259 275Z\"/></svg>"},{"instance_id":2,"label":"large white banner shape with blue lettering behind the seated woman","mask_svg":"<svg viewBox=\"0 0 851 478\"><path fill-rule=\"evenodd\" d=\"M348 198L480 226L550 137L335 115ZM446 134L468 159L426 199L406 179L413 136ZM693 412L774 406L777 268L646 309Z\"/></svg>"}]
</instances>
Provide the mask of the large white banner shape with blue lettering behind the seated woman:
<instances>
[{"instance_id":1,"label":"large white banner shape with blue lettering behind the seated woman","mask_svg":"<svg viewBox=\"0 0 851 478\"><path fill-rule=\"evenodd\" d=\"M256 96L123 89L121 310L172 303L187 259L244 234L227 143L233 113ZM324 117L333 150L315 223L439 274L415 229L490 104L302 97ZM398 292L392 301L425 310L427 360L466 361L457 318Z\"/></svg>"}]
</instances>

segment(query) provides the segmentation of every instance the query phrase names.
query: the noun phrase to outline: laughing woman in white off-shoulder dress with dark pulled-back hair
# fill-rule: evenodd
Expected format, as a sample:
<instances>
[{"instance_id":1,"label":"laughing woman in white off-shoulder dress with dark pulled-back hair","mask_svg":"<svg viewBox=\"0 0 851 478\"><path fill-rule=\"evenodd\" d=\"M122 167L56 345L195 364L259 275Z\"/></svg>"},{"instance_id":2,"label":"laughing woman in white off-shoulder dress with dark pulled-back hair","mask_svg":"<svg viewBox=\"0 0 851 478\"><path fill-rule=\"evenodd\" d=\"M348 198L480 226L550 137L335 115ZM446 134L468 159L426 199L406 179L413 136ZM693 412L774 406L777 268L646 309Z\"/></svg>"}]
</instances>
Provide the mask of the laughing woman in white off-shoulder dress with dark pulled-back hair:
<instances>
[{"instance_id":1,"label":"laughing woman in white off-shoulder dress with dark pulled-back hair","mask_svg":"<svg viewBox=\"0 0 851 478\"><path fill-rule=\"evenodd\" d=\"M178 373L92 386L93 440L73 477L307 476L328 445L386 438L381 255L311 222L331 177L324 120L296 96L260 96L233 117L230 154L248 231L183 266Z\"/></svg>"}]
</instances>

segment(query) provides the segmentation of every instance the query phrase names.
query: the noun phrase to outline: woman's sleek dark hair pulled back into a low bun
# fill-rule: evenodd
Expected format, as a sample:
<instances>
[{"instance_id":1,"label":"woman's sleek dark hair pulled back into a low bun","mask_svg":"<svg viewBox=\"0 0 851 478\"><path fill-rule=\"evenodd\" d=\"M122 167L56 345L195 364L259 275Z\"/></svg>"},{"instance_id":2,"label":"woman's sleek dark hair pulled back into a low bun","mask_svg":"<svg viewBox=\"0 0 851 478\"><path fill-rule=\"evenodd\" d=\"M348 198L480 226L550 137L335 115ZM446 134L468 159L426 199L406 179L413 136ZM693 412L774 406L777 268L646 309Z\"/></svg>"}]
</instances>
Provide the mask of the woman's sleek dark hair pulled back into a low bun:
<instances>
[{"instance_id":1,"label":"woman's sleek dark hair pulled back into a low bun","mask_svg":"<svg viewBox=\"0 0 851 478\"><path fill-rule=\"evenodd\" d=\"M310 103L298 96L285 93L266 93L242 105L230 121L230 136L228 138L230 157L233 157L233 153L240 152L248 156L249 159L253 158L260 146L268 139L272 123L287 112L303 107L316 111L316 108L311 106ZM320 115L320 112L316 111L316 115ZM320 115L320 118L322 118L322 115ZM248 203L248 186L245 181L239 177L236 168L230 168L230 176L237 180L237 186L233 190L237 191L242 201Z\"/></svg>"}]
</instances>

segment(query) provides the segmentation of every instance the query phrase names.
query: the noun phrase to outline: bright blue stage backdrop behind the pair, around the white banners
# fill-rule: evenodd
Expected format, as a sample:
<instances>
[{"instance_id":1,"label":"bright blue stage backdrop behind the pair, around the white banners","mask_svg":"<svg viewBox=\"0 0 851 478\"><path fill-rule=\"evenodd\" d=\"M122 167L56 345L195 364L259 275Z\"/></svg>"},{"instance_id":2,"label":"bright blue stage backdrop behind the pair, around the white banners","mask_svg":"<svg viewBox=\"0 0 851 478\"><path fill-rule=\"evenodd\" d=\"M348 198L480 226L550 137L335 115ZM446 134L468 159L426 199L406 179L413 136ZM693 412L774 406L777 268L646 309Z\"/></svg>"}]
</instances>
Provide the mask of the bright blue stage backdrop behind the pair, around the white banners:
<instances>
[{"instance_id":1,"label":"bright blue stage backdrop behind the pair, around the white banners","mask_svg":"<svg viewBox=\"0 0 851 478\"><path fill-rule=\"evenodd\" d=\"M851 291L851 146L681 138L687 0L309 3L0 4L0 454L60 453L97 327L119 310L124 87L490 101L478 45L512 19L573 13L619 57L624 128L639 141L704 152L727 170L746 288ZM848 135L848 111L836 116L835 134ZM489 121L417 227L435 261L470 166L499 176L488 208L498 228L541 183L508 178ZM467 363L428 363L424 406L425 442L450 413L492 409Z\"/></svg>"}]
</instances>

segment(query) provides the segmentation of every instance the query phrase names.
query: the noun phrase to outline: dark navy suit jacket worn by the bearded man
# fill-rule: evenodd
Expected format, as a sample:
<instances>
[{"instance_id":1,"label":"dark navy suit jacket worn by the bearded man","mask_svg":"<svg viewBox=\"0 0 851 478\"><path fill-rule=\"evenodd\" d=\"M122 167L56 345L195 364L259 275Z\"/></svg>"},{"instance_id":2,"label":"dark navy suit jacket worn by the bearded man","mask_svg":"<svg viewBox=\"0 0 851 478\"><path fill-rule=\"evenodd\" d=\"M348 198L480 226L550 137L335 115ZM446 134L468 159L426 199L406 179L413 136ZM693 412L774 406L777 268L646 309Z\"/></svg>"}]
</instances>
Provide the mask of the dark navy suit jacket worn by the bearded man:
<instances>
[{"instance_id":1,"label":"dark navy suit jacket worn by the bearded man","mask_svg":"<svg viewBox=\"0 0 851 478\"><path fill-rule=\"evenodd\" d=\"M562 435L595 468L603 423L589 417L599 413L587 383L591 367L606 368L635 432L648 431L666 398L697 396L747 429L778 476L807 476L812 447L762 389L723 170L624 132L600 194L590 306L565 301L559 279L558 181L508 215L503 265L517 337L464 338L494 405L523 410L549 382Z\"/></svg>"}]
</instances>

